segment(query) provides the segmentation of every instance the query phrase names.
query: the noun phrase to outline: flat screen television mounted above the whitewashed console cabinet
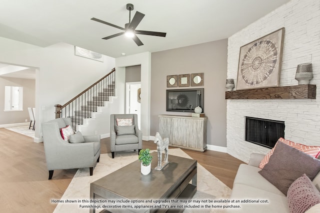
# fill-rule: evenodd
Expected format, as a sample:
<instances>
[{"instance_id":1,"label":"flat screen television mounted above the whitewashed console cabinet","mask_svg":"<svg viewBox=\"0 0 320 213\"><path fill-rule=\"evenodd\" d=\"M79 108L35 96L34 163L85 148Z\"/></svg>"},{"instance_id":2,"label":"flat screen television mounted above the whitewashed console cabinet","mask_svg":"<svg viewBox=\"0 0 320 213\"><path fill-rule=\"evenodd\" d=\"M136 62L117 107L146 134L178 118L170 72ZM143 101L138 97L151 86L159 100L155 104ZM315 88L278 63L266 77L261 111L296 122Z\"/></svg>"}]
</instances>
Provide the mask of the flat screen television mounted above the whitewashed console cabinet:
<instances>
[{"instance_id":1,"label":"flat screen television mounted above the whitewashed console cabinet","mask_svg":"<svg viewBox=\"0 0 320 213\"><path fill-rule=\"evenodd\" d=\"M166 111L194 112L199 106L204 112L204 89L167 89Z\"/></svg>"}]
</instances>

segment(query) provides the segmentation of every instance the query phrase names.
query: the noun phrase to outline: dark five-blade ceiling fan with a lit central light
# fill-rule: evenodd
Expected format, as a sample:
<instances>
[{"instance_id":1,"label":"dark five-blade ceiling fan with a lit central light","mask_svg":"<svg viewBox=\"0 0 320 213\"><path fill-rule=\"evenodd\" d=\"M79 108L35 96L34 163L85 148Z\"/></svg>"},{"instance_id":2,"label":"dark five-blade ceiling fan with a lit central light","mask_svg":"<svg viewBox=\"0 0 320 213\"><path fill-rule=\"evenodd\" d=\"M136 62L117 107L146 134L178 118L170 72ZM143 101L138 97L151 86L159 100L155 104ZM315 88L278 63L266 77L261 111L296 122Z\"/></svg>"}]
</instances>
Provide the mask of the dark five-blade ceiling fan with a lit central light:
<instances>
[{"instance_id":1,"label":"dark five-blade ceiling fan with a lit central light","mask_svg":"<svg viewBox=\"0 0 320 213\"><path fill-rule=\"evenodd\" d=\"M130 19L131 19L131 10L133 10L133 4L127 3L126 4L126 9L129 10L129 22L124 24L124 28L120 27L120 26L117 26L117 25L114 25L112 23L108 23L106 21L94 18L94 17L91 18L91 20L94 20L94 21L97 21L97 22L100 22L100 23L104 23L106 25L113 26L115 28L123 30L123 32L119 32L119 33L116 33L114 35L109 35L109 36L106 36L106 37L104 37L102 39L109 39L109 38L113 38L113 37L125 34L126 36L131 37L133 39L133 41L136 43L136 45L141 46L141 45L143 45L143 43L136 36L136 34L154 35L154 36L165 37L166 32L153 32L153 31L136 30L135 28L140 23L140 21L142 20L144 14L141 13L141 12L136 11L134 16L133 16L133 18L132 18L132 20L130 21Z\"/></svg>"}]
</instances>

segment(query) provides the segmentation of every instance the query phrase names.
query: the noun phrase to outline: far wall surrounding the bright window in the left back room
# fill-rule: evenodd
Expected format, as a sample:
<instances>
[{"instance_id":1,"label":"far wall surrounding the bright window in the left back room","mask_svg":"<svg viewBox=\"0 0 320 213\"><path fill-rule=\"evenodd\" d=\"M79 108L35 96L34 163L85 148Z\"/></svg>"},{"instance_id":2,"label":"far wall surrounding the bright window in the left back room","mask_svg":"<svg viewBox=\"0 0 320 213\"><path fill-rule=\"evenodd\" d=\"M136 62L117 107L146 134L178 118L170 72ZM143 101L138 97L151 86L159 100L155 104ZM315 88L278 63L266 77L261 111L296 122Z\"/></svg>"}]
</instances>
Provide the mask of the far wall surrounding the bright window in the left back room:
<instances>
[{"instance_id":1,"label":"far wall surrounding the bright window in the left back room","mask_svg":"<svg viewBox=\"0 0 320 213\"><path fill-rule=\"evenodd\" d=\"M23 111L4 112L4 87L23 87ZM0 77L0 125L30 121L28 107L35 107L35 80Z\"/></svg>"}]
</instances>

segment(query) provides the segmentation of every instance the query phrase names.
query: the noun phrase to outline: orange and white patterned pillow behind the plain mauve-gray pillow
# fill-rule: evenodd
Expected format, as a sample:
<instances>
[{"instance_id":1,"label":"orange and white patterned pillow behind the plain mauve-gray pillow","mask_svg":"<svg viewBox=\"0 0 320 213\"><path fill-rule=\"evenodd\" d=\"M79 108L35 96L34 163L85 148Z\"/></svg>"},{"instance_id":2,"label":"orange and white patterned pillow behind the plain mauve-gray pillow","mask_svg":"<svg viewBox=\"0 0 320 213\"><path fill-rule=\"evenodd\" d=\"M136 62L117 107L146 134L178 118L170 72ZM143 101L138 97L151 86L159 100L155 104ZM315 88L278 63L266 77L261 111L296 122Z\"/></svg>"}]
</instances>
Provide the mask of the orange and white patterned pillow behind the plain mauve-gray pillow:
<instances>
[{"instance_id":1,"label":"orange and white patterned pillow behind the plain mauve-gray pillow","mask_svg":"<svg viewBox=\"0 0 320 213\"><path fill-rule=\"evenodd\" d=\"M318 158L320 156L320 147L317 146L306 146L303 144L298 144L298 143L294 143L292 141L289 140L285 140L284 138L279 138L278 142L282 142L286 145L289 145L290 147L293 147L301 152L304 152L314 158ZM269 158L270 156L273 154L274 149L276 147L276 144L274 145L274 147L270 150L270 152L268 154L266 154L264 156L264 158L262 159L262 161L260 162L259 168L263 169L263 167L265 166L265 164L267 164L269 162Z\"/></svg>"}]
</instances>

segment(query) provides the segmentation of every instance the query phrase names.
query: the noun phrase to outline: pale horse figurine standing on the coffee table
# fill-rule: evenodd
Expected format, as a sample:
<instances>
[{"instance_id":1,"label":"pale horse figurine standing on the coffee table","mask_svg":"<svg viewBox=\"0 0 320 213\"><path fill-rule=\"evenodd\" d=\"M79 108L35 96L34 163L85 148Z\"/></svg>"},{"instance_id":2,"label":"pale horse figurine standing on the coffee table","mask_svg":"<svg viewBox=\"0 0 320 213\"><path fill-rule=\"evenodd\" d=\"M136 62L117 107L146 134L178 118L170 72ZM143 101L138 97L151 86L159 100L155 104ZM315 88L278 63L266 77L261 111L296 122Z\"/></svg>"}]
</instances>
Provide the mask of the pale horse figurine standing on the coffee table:
<instances>
[{"instance_id":1,"label":"pale horse figurine standing on the coffee table","mask_svg":"<svg viewBox=\"0 0 320 213\"><path fill-rule=\"evenodd\" d=\"M162 140L160 134L157 132L155 134L154 143L156 144L156 149L158 152L158 165L155 167L155 170L162 170L169 162L168 162L168 151L169 151L169 139L164 138ZM162 151L164 150L164 162L162 163Z\"/></svg>"}]
</instances>

